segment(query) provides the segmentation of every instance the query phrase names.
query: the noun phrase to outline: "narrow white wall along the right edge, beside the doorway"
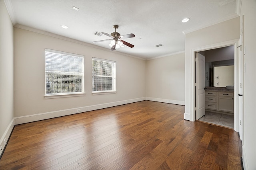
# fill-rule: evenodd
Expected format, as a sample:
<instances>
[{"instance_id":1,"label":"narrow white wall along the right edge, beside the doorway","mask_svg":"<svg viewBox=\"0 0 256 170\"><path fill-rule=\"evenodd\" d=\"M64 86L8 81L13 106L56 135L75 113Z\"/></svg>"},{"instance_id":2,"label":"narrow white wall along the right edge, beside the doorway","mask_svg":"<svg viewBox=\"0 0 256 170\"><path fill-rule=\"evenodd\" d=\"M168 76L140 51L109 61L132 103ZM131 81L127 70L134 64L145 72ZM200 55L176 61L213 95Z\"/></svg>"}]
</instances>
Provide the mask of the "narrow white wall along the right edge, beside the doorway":
<instances>
[{"instance_id":1,"label":"narrow white wall along the right edge, beside the doorway","mask_svg":"<svg viewBox=\"0 0 256 170\"><path fill-rule=\"evenodd\" d=\"M242 0L241 19L244 15L244 140L243 158L246 170L256 169L256 1Z\"/></svg>"}]
</instances>

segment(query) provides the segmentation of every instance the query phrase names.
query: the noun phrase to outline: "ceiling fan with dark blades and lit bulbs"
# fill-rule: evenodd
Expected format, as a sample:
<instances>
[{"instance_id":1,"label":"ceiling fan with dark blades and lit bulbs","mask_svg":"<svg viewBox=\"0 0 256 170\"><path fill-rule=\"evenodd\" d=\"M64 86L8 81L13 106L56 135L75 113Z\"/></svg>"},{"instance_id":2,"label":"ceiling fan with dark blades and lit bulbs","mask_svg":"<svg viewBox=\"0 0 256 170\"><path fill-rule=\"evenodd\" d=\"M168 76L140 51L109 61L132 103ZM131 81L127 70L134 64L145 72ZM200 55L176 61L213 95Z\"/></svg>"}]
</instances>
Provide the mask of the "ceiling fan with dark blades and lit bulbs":
<instances>
[{"instance_id":1,"label":"ceiling fan with dark blades and lit bulbs","mask_svg":"<svg viewBox=\"0 0 256 170\"><path fill-rule=\"evenodd\" d=\"M119 49L120 47L124 47L124 45L128 46L128 47L134 47L134 45L127 43L126 41L122 40L124 38L132 38L135 37L135 35L133 33L130 34L126 34L126 35L120 35L120 33L116 32L116 29L118 29L118 25L114 25L113 26L115 29L115 32L112 32L110 35L108 33L99 33L96 31L96 33L94 33L95 35L99 35L101 36L101 34L104 34L108 37L111 37L112 39L104 39L104 40L100 40L100 41L93 41L93 43L99 43L99 42L103 42L103 41L110 41L109 46L111 47L111 51L115 50L115 49Z\"/></svg>"}]
</instances>

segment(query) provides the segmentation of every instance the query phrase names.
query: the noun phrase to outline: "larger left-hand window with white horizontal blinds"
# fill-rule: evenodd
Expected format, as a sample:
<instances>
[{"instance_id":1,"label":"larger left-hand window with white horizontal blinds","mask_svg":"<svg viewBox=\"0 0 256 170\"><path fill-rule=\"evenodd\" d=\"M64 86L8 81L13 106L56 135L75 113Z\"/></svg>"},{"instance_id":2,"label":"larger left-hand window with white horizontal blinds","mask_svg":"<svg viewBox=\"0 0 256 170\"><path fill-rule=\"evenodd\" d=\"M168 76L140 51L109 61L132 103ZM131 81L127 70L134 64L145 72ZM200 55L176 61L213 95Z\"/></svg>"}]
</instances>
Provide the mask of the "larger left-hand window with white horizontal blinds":
<instances>
[{"instance_id":1,"label":"larger left-hand window with white horizontal blinds","mask_svg":"<svg viewBox=\"0 0 256 170\"><path fill-rule=\"evenodd\" d=\"M45 49L45 95L83 93L84 56Z\"/></svg>"}]
</instances>

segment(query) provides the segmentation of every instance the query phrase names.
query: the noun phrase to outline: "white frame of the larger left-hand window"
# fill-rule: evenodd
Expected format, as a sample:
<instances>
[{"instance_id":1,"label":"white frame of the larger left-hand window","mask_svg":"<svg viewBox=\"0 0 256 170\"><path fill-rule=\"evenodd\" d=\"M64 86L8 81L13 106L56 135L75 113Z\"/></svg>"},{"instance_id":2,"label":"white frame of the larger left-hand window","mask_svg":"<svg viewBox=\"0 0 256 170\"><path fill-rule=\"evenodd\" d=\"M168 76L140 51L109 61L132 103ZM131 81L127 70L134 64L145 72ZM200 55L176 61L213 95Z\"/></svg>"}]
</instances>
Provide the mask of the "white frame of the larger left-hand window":
<instances>
[{"instance_id":1,"label":"white frame of the larger left-hand window","mask_svg":"<svg viewBox=\"0 0 256 170\"><path fill-rule=\"evenodd\" d=\"M81 61L81 66L78 72L70 72L70 71L64 71L64 70L47 70L46 68L46 63L47 60L49 58L47 58L46 54L52 53L53 55L60 55L62 57L67 56L68 57L77 57L82 59ZM83 55L78 55L78 54L72 54L72 53L66 53L66 52L62 52L62 51L56 51L56 50L52 50L52 49L45 49L45 53L44 53L44 59L45 59L45 96L44 98L49 99L49 98L66 98L66 97L75 97L75 96L84 96L85 92L84 92L84 56ZM61 60L60 60L61 61ZM56 62L56 61L54 61ZM57 64L57 63L56 63ZM60 64L69 64L69 63L60 63ZM74 63L73 63L74 64ZM72 65L68 65L69 67L71 67ZM73 65L74 66L74 65ZM81 86L81 90L79 92L53 92L53 93L47 93L47 88L48 88L48 83L49 80L47 78L48 73L53 73L54 74L58 74L58 75L68 75L68 76L82 76L81 78L81 84L79 84ZM52 83L52 82L50 82ZM60 89L62 89L63 86L61 86Z\"/></svg>"}]
</instances>

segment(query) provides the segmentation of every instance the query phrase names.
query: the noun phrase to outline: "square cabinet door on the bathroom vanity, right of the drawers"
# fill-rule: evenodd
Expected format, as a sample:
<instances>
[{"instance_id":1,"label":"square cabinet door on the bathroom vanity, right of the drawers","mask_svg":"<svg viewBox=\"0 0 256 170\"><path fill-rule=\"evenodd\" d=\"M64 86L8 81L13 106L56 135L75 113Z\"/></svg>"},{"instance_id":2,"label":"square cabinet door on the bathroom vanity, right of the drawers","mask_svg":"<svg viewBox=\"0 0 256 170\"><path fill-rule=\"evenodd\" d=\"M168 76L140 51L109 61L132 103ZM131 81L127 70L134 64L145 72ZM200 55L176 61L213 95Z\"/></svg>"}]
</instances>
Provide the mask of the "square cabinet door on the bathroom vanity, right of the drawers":
<instances>
[{"instance_id":1,"label":"square cabinet door on the bathroom vanity, right of the drawers","mask_svg":"<svg viewBox=\"0 0 256 170\"><path fill-rule=\"evenodd\" d=\"M234 112L234 98L218 97L218 110Z\"/></svg>"}]
</instances>

